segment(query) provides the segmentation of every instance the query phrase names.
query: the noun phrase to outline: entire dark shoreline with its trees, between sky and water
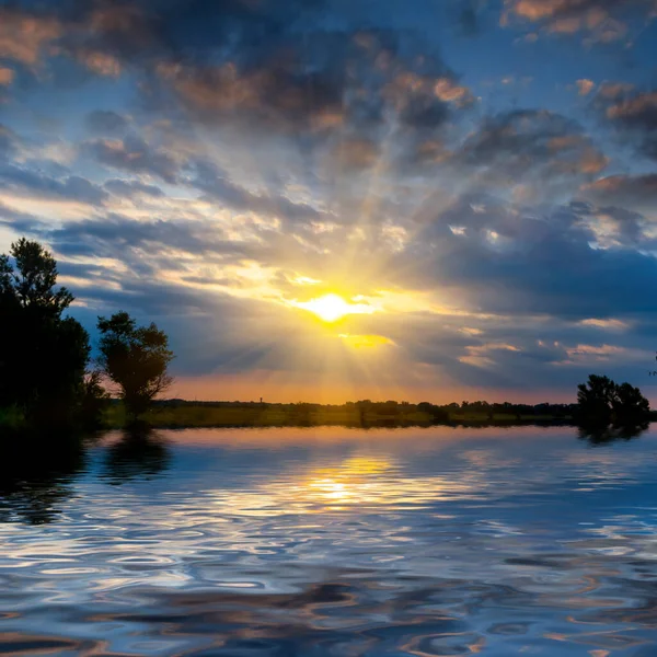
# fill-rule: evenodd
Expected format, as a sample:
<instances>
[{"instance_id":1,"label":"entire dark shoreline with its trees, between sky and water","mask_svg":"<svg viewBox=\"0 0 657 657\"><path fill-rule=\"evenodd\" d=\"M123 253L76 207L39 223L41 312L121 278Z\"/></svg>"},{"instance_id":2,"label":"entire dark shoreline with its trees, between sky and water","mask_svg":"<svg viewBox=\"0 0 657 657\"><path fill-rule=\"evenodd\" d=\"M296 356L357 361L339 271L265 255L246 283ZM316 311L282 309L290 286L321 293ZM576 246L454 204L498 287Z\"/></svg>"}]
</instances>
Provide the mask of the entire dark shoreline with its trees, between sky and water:
<instances>
[{"instance_id":1,"label":"entire dark shoreline with its trees, between sky and water","mask_svg":"<svg viewBox=\"0 0 657 657\"><path fill-rule=\"evenodd\" d=\"M650 419L637 388L591 374L577 403L515 404L485 401L445 405L362 400L311 403L188 402L159 400L173 379L173 351L153 323L127 312L100 316L97 357L88 332L66 311L74 300L57 288L57 263L38 242L20 239L0 255L0 427L102 426L347 426L426 424L574 423L602 434ZM615 430L614 429L614 430ZM622 431L621 431L622 433ZM626 431L632 433L630 429Z\"/></svg>"}]
</instances>

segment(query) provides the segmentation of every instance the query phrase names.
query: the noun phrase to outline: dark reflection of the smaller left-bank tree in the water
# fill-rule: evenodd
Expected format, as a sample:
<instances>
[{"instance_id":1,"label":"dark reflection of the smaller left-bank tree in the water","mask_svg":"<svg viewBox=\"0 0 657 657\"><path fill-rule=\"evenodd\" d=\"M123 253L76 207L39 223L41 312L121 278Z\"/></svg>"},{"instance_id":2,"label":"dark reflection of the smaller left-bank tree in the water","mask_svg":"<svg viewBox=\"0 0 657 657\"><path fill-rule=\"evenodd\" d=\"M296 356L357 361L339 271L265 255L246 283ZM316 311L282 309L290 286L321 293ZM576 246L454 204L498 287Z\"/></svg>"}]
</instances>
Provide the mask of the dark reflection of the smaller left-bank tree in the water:
<instances>
[{"instance_id":1,"label":"dark reflection of the smaller left-bank tree in the water","mask_svg":"<svg viewBox=\"0 0 657 657\"><path fill-rule=\"evenodd\" d=\"M107 448L104 475L113 484L136 477L150 479L169 468L166 442L151 429L126 429L118 442Z\"/></svg>"}]
</instances>

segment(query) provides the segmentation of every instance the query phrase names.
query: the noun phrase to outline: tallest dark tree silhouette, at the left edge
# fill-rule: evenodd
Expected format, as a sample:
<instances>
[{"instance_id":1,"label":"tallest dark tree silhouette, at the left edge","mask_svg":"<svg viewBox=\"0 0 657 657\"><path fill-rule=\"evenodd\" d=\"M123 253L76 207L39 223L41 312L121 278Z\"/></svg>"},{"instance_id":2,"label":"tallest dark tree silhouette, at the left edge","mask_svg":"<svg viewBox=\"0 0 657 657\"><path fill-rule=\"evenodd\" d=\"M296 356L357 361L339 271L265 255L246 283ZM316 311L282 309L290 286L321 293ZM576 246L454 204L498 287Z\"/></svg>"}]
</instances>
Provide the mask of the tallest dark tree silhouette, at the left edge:
<instances>
[{"instance_id":1,"label":"tallest dark tree silhouette, at the left edge","mask_svg":"<svg viewBox=\"0 0 657 657\"><path fill-rule=\"evenodd\" d=\"M28 419L70 419L89 361L89 335L62 313L73 296L57 284L57 263L20 239L0 255L0 406Z\"/></svg>"}]
</instances>

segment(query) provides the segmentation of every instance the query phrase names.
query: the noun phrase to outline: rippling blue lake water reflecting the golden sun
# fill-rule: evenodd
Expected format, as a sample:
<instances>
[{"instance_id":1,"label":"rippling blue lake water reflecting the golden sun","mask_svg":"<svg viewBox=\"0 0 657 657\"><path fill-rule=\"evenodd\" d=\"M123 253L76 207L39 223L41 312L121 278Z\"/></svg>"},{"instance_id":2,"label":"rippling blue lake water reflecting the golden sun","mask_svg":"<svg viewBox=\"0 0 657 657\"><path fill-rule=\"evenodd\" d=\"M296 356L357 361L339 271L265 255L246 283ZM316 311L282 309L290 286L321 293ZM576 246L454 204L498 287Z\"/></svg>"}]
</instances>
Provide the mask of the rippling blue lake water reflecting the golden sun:
<instances>
[{"instance_id":1,"label":"rippling blue lake water reflecting the golden sun","mask_svg":"<svg viewBox=\"0 0 657 657\"><path fill-rule=\"evenodd\" d=\"M8 477L3 654L657 655L654 429L112 434Z\"/></svg>"}]
</instances>

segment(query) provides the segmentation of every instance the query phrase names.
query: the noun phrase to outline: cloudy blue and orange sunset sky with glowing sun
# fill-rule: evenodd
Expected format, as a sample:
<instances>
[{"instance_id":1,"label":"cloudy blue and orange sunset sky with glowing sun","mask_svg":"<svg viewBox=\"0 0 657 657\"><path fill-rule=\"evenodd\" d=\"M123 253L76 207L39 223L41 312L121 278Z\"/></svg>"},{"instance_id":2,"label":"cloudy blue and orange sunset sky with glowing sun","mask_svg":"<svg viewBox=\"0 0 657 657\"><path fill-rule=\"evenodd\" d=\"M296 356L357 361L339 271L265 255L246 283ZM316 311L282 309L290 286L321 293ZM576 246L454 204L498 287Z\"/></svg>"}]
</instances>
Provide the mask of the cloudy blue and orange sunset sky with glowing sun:
<instances>
[{"instance_id":1,"label":"cloudy blue and orange sunset sky with glowing sun","mask_svg":"<svg viewBox=\"0 0 657 657\"><path fill-rule=\"evenodd\" d=\"M657 402L657 0L0 2L0 253L170 396Z\"/></svg>"}]
</instances>

